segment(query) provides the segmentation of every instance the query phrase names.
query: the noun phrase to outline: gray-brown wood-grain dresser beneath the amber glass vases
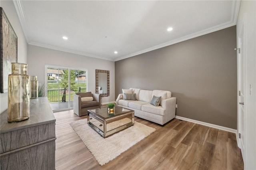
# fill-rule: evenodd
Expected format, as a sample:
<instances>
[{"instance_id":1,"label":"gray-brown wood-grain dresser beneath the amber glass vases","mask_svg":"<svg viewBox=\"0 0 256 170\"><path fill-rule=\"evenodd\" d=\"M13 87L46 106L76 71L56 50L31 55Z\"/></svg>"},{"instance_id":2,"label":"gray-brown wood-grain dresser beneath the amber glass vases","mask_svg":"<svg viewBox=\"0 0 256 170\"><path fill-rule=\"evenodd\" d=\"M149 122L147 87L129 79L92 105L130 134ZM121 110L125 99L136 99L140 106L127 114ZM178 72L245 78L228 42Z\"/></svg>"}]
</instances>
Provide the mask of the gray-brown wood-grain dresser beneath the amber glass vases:
<instances>
[{"instance_id":1,"label":"gray-brown wood-grain dresser beneath the amber glass vases","mask_svg":"<svg viewBox=\"0 0 256 170\"><path fill-rule=\"evenodd\" d=\"M30 99L30 118L8 123L0 115L1 170L54 170L56 119L47 97Z\"/></svg>"}]
</instances>

